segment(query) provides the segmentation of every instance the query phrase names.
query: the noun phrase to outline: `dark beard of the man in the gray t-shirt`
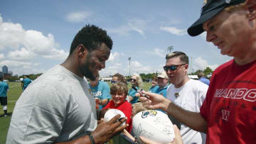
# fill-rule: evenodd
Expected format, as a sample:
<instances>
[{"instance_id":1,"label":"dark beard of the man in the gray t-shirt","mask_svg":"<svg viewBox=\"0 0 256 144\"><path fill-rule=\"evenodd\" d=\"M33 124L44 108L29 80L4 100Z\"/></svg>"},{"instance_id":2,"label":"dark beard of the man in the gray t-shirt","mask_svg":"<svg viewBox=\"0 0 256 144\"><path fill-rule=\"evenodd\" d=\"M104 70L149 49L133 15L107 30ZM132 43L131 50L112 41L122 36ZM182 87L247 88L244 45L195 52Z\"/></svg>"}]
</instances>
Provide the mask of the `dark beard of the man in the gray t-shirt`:
<instances>
[{"instance_id":1,"label":"dark beard of the man in the gray t-shirt","mask_svg":"<svg viewBox=\"0 0 256 144\"><path fill-rule=\"evenodd\" d=\"M95 63L90 62L90 52L89 52L86 56L85 65L82 65L82 67L80 67L80 72L82 72L82 74L86 78L92 81L95 81L97 75L93 74L94 72L90 69L90 67L92 67L93 65L95 65Z\"/></svg>"}]
</instances>

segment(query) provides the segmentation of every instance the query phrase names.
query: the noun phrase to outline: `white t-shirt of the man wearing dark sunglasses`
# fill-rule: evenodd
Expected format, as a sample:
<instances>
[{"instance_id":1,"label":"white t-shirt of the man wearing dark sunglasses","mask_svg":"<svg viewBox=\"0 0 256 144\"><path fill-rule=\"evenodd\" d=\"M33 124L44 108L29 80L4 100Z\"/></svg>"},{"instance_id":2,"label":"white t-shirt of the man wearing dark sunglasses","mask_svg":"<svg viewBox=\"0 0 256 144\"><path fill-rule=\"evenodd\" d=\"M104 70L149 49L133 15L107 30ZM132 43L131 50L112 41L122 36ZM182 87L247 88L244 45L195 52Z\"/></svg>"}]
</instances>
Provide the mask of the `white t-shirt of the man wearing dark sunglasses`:
<instances>
[{"instance_id":1,"label":"white t-shirt of the man wearing dark sunglasses","mask_svg":"<svg viewBox=\"0 0 256 144\"><path fill-rule=\"evenodd\" d=\"M167 89L167 99L188 111L200 112L200 108L206 99L208 85L194 79L189 79L182 87L174 87L170 84ZM194 131L181 123L181 137L183 143L206 143L206 134Z\"/></svg>"}]
</instances>

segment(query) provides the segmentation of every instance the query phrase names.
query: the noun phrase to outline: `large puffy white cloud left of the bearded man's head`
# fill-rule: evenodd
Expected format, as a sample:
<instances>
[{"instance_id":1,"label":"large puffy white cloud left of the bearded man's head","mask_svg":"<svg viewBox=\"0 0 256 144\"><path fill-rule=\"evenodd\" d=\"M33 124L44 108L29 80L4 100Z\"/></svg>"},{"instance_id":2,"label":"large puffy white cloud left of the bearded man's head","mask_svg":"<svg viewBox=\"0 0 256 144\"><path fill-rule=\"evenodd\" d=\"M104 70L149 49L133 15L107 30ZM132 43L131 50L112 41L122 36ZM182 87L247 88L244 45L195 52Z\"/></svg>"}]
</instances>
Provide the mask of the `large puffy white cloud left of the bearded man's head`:
<instances>
[{"instance_id":1,"label":"large puffy white cloud left of the bearded man's head","mask_svg":"<svg viewBox=\"0 0 256 144\"><path fill-rule=\"evenodd\" d=\"M2 18L0 16L2 21ZM52 34L24 30L19 23L0 23L0 50L7 50L10 60L31 60L36 56L64 60L68 52L58 49ZM14 50L14 51L11 51Z\"/></svg>"}]
</instances>

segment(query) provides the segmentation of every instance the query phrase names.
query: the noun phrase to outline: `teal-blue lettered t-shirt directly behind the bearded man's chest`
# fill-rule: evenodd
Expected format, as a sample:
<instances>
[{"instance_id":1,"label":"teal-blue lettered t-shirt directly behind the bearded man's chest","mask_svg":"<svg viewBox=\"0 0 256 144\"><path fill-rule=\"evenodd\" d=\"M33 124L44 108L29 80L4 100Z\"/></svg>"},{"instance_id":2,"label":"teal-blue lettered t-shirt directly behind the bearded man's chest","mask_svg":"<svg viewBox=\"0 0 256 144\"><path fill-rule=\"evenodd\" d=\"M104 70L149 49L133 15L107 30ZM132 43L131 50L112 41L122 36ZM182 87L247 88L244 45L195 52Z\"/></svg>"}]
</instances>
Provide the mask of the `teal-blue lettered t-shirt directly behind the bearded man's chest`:
<instances>
[{"instance_id":1,"label":"teal-blue lettered t-shirt directly behind the bearded man's chest","mask_svg":"<svg viewBox=\"0 0 256 144\"><path fill-rule=\"evenodd\" d=\"M94 96L94 98L98 98L100 100L102 99L111 99L110 96L110 86L107 84L107 82L99 81L97 86L92 87L90 84L91 94ZM106 104L107 105L107 104ZM104 106L106 106L104 105ZM100 104L99 110L101 110L104 106Z\"/></svg>"}]
</instances>

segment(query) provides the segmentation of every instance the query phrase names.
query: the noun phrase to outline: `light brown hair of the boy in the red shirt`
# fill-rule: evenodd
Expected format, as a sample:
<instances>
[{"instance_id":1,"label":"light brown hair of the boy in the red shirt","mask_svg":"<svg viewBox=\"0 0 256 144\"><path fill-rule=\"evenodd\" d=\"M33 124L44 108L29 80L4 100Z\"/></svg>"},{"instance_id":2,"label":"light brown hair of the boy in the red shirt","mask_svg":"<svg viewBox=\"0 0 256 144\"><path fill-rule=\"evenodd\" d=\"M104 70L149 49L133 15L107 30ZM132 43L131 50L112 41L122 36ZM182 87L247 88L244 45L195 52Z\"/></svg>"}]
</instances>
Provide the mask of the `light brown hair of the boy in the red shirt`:
<instances>
[{"instance_id":1,"label":"light brown hair of the boy in the red shirt","mask_svg":"<svg viewBox=\"0 0 256 144\"><path fill-rule=\"evenodd\" d=\"M124 84L124 82L117 82L112 84L110 87L110 94L124 94L124 96L127 96L128 94L128 87L127 84Z\"/></svg>"}]
</instances>

